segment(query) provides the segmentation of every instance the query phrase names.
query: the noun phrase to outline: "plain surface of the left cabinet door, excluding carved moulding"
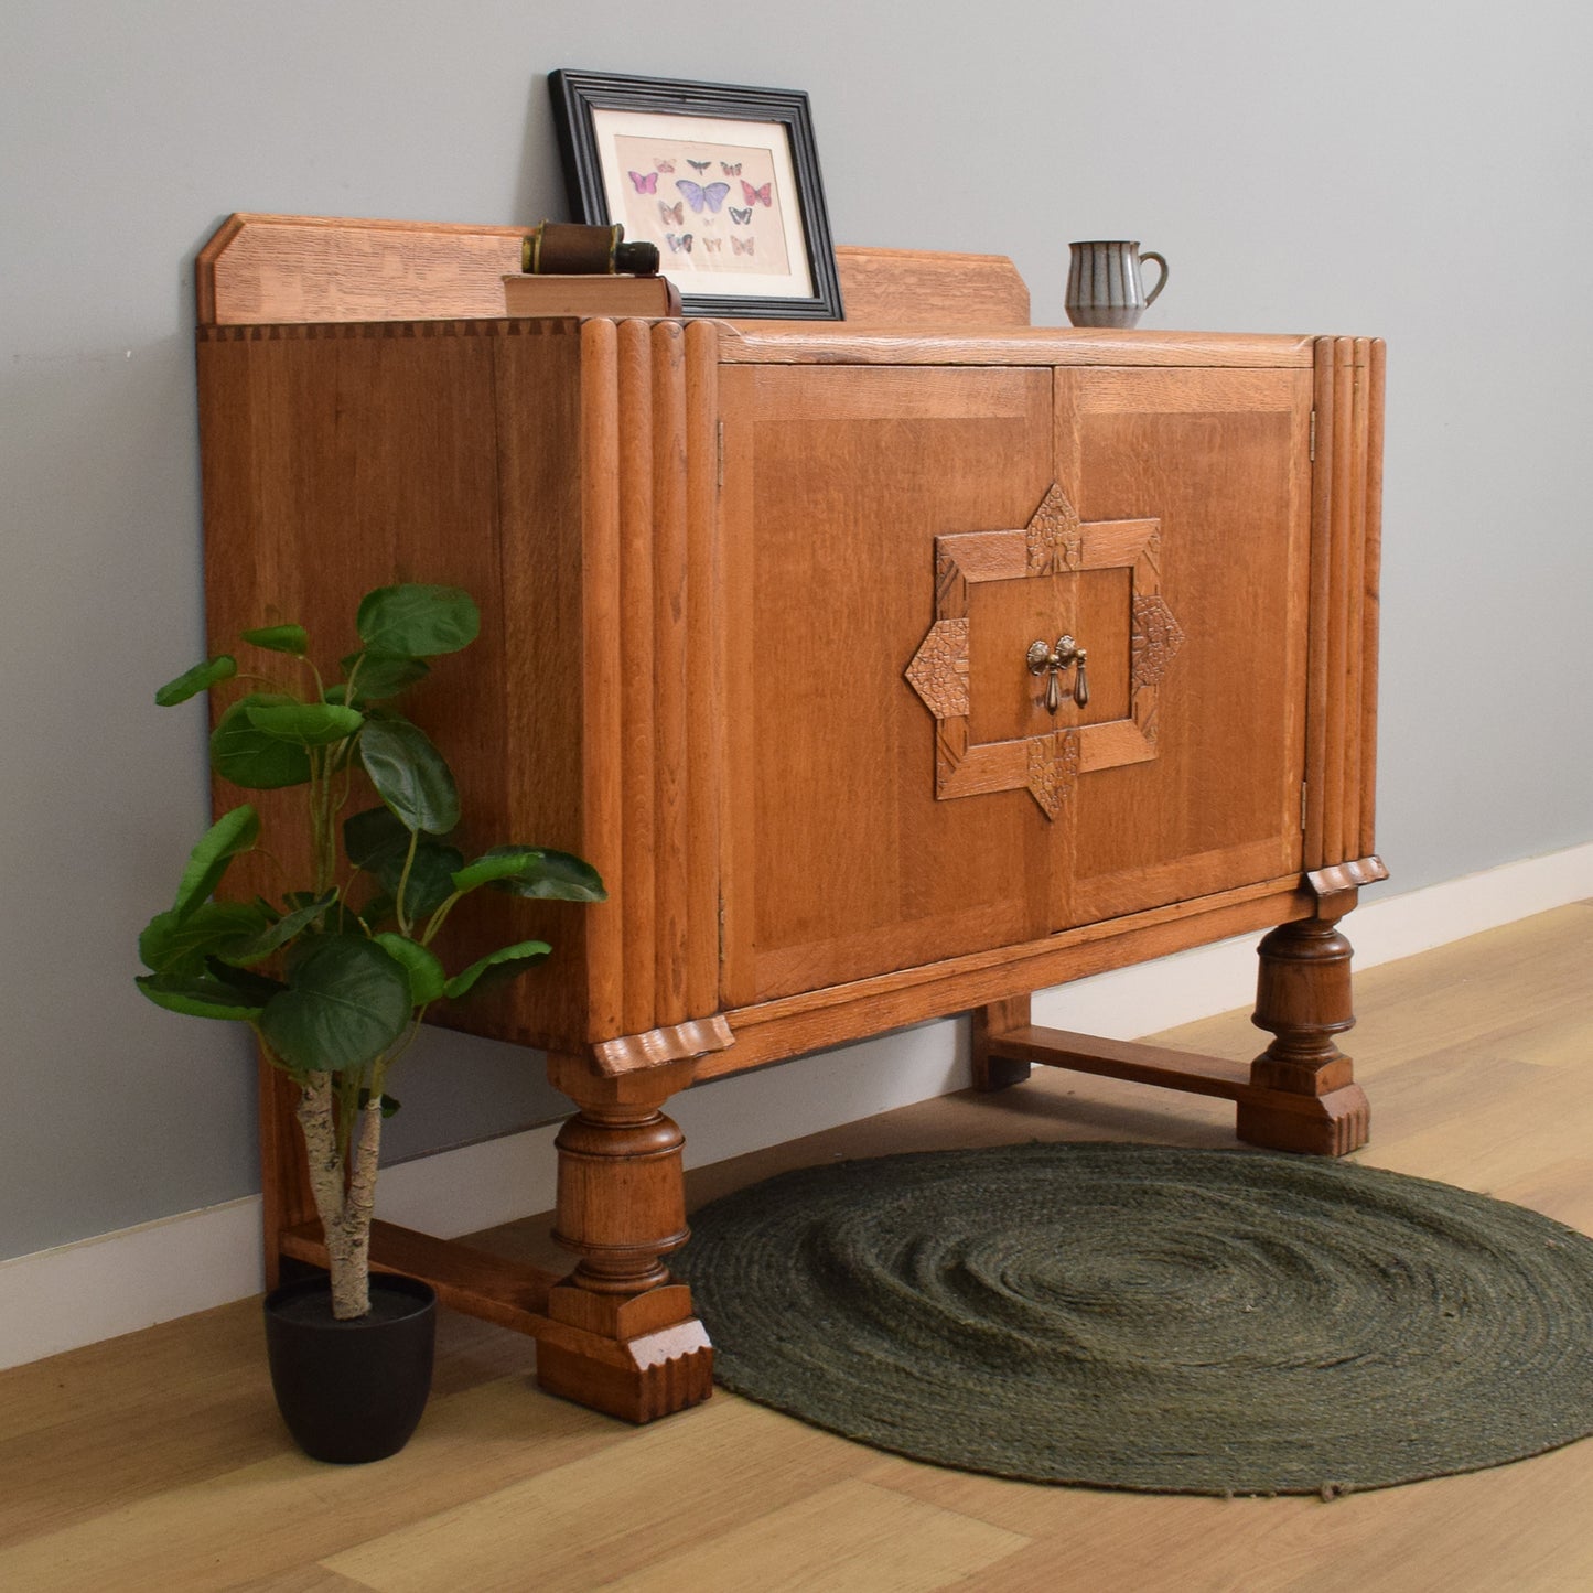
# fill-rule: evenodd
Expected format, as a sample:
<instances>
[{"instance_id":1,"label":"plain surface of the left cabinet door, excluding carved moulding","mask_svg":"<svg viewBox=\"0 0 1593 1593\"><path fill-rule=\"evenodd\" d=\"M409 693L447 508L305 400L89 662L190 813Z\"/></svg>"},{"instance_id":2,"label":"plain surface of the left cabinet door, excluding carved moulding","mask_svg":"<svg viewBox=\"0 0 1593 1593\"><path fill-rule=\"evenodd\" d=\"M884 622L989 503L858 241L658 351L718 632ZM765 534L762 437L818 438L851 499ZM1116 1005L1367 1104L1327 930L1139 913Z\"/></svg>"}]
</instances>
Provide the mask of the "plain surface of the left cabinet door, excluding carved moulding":
<instances>
[{"instance_id":1,"label":"plain surface of the left cabinet door, excluding carved moulding","mask_svg":"<svg viewBox=\"0 0 1593 1593\"><path fill-rule=\"evenodd\" d=\"M1048 370L723 371L726 1005L1048 932L1034 804L937 800L903 671L935 538L1021 526L1045 494L1051 389ZM1051 629L1053 596L1031 597Z\"/></svg>"}]
</instances>

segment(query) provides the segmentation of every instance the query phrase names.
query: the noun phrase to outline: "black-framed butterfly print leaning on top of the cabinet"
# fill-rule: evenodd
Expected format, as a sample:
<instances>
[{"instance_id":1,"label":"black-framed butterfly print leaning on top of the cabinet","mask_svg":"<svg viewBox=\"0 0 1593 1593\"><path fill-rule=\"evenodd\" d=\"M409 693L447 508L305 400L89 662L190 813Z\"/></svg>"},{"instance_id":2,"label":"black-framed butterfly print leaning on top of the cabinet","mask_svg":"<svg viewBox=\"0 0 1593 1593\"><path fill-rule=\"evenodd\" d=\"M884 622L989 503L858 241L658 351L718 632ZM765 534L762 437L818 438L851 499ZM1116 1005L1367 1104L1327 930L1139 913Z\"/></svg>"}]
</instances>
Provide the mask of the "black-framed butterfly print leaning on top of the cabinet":
<instances>
[{"instance_id":1,"label":"black-framed butterfly print leaning on top of the cabinet","mask_svg":"<svg viewBox=\"0 0 1593 1593\"><path fill-rule=\"evenodd\" d=\"M808 96L553 72L578 221L658 245L688 315L840 320Z\"/></svg>"}]
</instances>

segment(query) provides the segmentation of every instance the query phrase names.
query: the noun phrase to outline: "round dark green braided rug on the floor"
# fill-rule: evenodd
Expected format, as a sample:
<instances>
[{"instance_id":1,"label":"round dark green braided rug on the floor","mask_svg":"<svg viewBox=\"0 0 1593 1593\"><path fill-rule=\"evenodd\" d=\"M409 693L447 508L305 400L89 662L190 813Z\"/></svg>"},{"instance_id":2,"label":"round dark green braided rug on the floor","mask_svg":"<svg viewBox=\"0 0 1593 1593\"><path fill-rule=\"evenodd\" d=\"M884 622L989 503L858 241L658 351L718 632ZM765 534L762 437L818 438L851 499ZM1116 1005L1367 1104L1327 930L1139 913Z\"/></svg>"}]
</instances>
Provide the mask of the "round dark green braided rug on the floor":
<instances>
[{"instance_id":1,"label":"round dark green braided rug on the floor","mask_svg":"<svg viewBox=\"0 0 1593 1593\"><path fill-rule=\"evenodd\" d=\"M691 1227L726 1388L940 1466L1333 1497L1593 1432L1593 1239L1424 1179L1031 1144L789 1172Z\"/></svg>"}]
</instances>

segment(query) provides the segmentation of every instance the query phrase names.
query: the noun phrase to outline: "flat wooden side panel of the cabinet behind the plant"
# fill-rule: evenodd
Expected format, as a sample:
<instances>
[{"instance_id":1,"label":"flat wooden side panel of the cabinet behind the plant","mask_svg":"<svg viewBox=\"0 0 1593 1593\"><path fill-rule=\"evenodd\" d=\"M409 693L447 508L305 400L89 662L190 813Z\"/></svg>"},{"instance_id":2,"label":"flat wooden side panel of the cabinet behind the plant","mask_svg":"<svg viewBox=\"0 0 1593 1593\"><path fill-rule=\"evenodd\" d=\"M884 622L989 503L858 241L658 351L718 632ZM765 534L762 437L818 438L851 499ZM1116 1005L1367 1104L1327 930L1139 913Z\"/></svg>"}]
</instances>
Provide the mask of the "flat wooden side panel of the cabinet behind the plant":
<instances>
[{"instance_id":1,"label":"flat wooden side panel of the cabinet behind the plant","mask_svg":"<svg viewBox=\"0 0 1593 1593\"><path fill-rule=\"evenodd\" d=\"M438 660L398 704L452 765L464 809L456 841L467 855L503 840L570 851L581 841L578 801L527 808L519 795L572 761L578 720L554 715L535 734L515 728L534 691L564 691L524 658L524 593L515 561L503 562L500 503L524 495L510 489L500 499L505 341L505 323L438 322L215 328L199 344L212 647L231 647L245 626L298 620L323 672L335 671L358 647L355 604L370 588L425 581L470 591L481 607L479 639ZM537 342L542 358L530 363L540 381L561 339L550 330ZM527 491L556 499L546 481ZM280 655L244 661L245 671L284 667L292 666ZM215 800L233 806L242 795L218 787ZM258 806L268 824L284 820L296 833L299 798L263 792ZM373 793L355 793L350 811L373 803ZM295 859L284 862L292 868ZM252 867L239 870L237 889L280 889L264 865ZM535 933L556 953L511 997L440 1018L538 1043L578 1027L578 918L548 926L540 905L507 897L467 906L441 948L451 965Z\"/></svg>"}]
</instances>

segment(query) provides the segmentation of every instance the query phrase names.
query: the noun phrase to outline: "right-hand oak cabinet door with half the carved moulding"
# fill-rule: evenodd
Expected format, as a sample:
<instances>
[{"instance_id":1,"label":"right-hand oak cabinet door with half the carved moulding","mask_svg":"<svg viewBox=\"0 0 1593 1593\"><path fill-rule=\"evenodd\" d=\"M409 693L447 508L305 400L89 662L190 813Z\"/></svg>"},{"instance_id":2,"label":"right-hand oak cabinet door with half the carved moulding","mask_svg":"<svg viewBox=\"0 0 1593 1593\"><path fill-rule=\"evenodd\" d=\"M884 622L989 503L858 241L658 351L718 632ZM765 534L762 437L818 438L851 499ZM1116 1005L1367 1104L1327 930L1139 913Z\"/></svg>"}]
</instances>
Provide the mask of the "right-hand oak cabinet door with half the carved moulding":
<instances>
[{"instance_id":1,"label":"right-hand oak cabinet door with half the carved moulding","mask_svg":"<svg viewBox=\"0 0 1593 1593\"><path fill-rule=\"evenodd\" d=\"M1123 714L1080 733L1055 927L1298 871L1309 373L1058 370L1055 421L1075 640Z\"/></svg>"}]
</instances>

